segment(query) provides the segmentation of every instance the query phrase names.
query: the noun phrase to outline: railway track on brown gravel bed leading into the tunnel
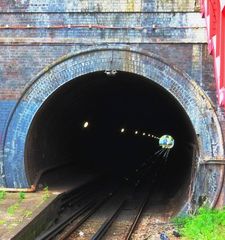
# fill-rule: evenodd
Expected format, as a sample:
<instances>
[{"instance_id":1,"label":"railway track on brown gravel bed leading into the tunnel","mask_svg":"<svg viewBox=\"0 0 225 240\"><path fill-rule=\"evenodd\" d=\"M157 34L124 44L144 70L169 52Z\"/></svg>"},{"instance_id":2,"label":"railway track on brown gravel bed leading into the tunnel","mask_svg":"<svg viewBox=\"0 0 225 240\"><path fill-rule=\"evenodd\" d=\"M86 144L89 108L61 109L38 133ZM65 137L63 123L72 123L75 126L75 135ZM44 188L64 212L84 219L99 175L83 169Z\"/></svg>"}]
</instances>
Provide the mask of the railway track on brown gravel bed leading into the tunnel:
<instances>
[{"instance_id":1,"label":"railway track on brown gravel bed leading into the tunnel","mask_svg":"<svg viewBox=\"0 0 225 240\"><path fill-rule=\"evenodd\" d=\"M71 193L63 201L63 217L37 240L131 239L148 203L148 191L146 188L137 190L126 185L121 190L118 186L107 189L110 190L101 189L97 193L92 187ZM68 211L68 204L76 207Z\"/></svg>"}]
</instances>

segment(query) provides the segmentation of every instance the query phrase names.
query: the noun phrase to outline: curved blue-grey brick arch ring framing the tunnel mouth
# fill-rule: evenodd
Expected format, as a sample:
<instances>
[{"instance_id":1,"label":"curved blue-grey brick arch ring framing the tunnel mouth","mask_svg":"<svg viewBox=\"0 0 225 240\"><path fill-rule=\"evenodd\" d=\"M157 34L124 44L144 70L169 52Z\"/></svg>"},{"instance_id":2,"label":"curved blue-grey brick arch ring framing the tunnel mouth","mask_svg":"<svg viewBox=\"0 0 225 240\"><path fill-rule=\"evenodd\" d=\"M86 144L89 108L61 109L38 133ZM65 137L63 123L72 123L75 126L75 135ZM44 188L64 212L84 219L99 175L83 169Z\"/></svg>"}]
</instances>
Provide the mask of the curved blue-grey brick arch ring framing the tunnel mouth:
<instances>
[{"instance_id":1,"label":"curved blue-grey brick arch ring framing the tunnel mouth","mask_svg":"<svg viewBox=\"0 0 225 240\"><path fill-rule=\"evenodd\" d=\"M198 141L190 198L184 208L196 203L202 195L207 195L213 204L220 192L223 168L205 164L205 161L222 159L224 152L220 126L210 100L185 73L154 54L130 48L90 49L65 56L32 81L12 113L4 139L6 186L29 186L24 162L26 137L35 114L45 100L65 83L84 74L105 70L144 76L179 101L189 116Z\"/></svg>"}]
</instances>

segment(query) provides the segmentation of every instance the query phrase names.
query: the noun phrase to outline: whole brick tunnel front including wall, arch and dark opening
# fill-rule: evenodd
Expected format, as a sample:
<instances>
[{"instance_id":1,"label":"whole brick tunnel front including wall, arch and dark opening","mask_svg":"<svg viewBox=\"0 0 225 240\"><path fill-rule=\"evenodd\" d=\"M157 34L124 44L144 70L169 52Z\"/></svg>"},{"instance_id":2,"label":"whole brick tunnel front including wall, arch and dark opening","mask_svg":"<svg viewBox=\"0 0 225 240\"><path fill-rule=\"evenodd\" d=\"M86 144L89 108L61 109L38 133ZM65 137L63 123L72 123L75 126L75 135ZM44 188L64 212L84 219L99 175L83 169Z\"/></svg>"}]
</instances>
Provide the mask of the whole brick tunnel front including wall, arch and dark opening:
<instances>
[{"instance_id":1,"label":"whole brick tunnel front including wall, arch and dark opening","mask_svg":"<svg viewBox=\"0 0 225 240\"><path fill-rule=\"evenodd\" d=\"M0 6L0 187L58 194L102 176L147 183L156 212L223 206L223 89L200 5L39 2ZM151 137L165 134L168 156Z\"/></svg>"}]
</instances>

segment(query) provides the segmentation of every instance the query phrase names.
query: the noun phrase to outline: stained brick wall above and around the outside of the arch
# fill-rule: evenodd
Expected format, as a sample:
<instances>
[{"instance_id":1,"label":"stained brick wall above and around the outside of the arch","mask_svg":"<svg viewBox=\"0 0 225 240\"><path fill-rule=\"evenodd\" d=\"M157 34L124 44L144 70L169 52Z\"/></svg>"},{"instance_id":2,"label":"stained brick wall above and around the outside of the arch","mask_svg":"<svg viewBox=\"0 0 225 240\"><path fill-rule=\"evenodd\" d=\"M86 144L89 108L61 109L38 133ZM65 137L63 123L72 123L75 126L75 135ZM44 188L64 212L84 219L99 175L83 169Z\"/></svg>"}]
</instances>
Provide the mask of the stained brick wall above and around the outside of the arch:
<instances>
[{"instance_id":1,"label":"stained brick wall above and around the outside of the arch","mask_svg":"<svg viewBox=\"0 0 225 240\"><path fill-rule=\"evenodd\" d=\"M0 185L13 109L32 79L58 58L103 46L157 54L189 74L216 102L204 20L194 0L15 0L0 2Z\"/></svg>"}]
</instances>

